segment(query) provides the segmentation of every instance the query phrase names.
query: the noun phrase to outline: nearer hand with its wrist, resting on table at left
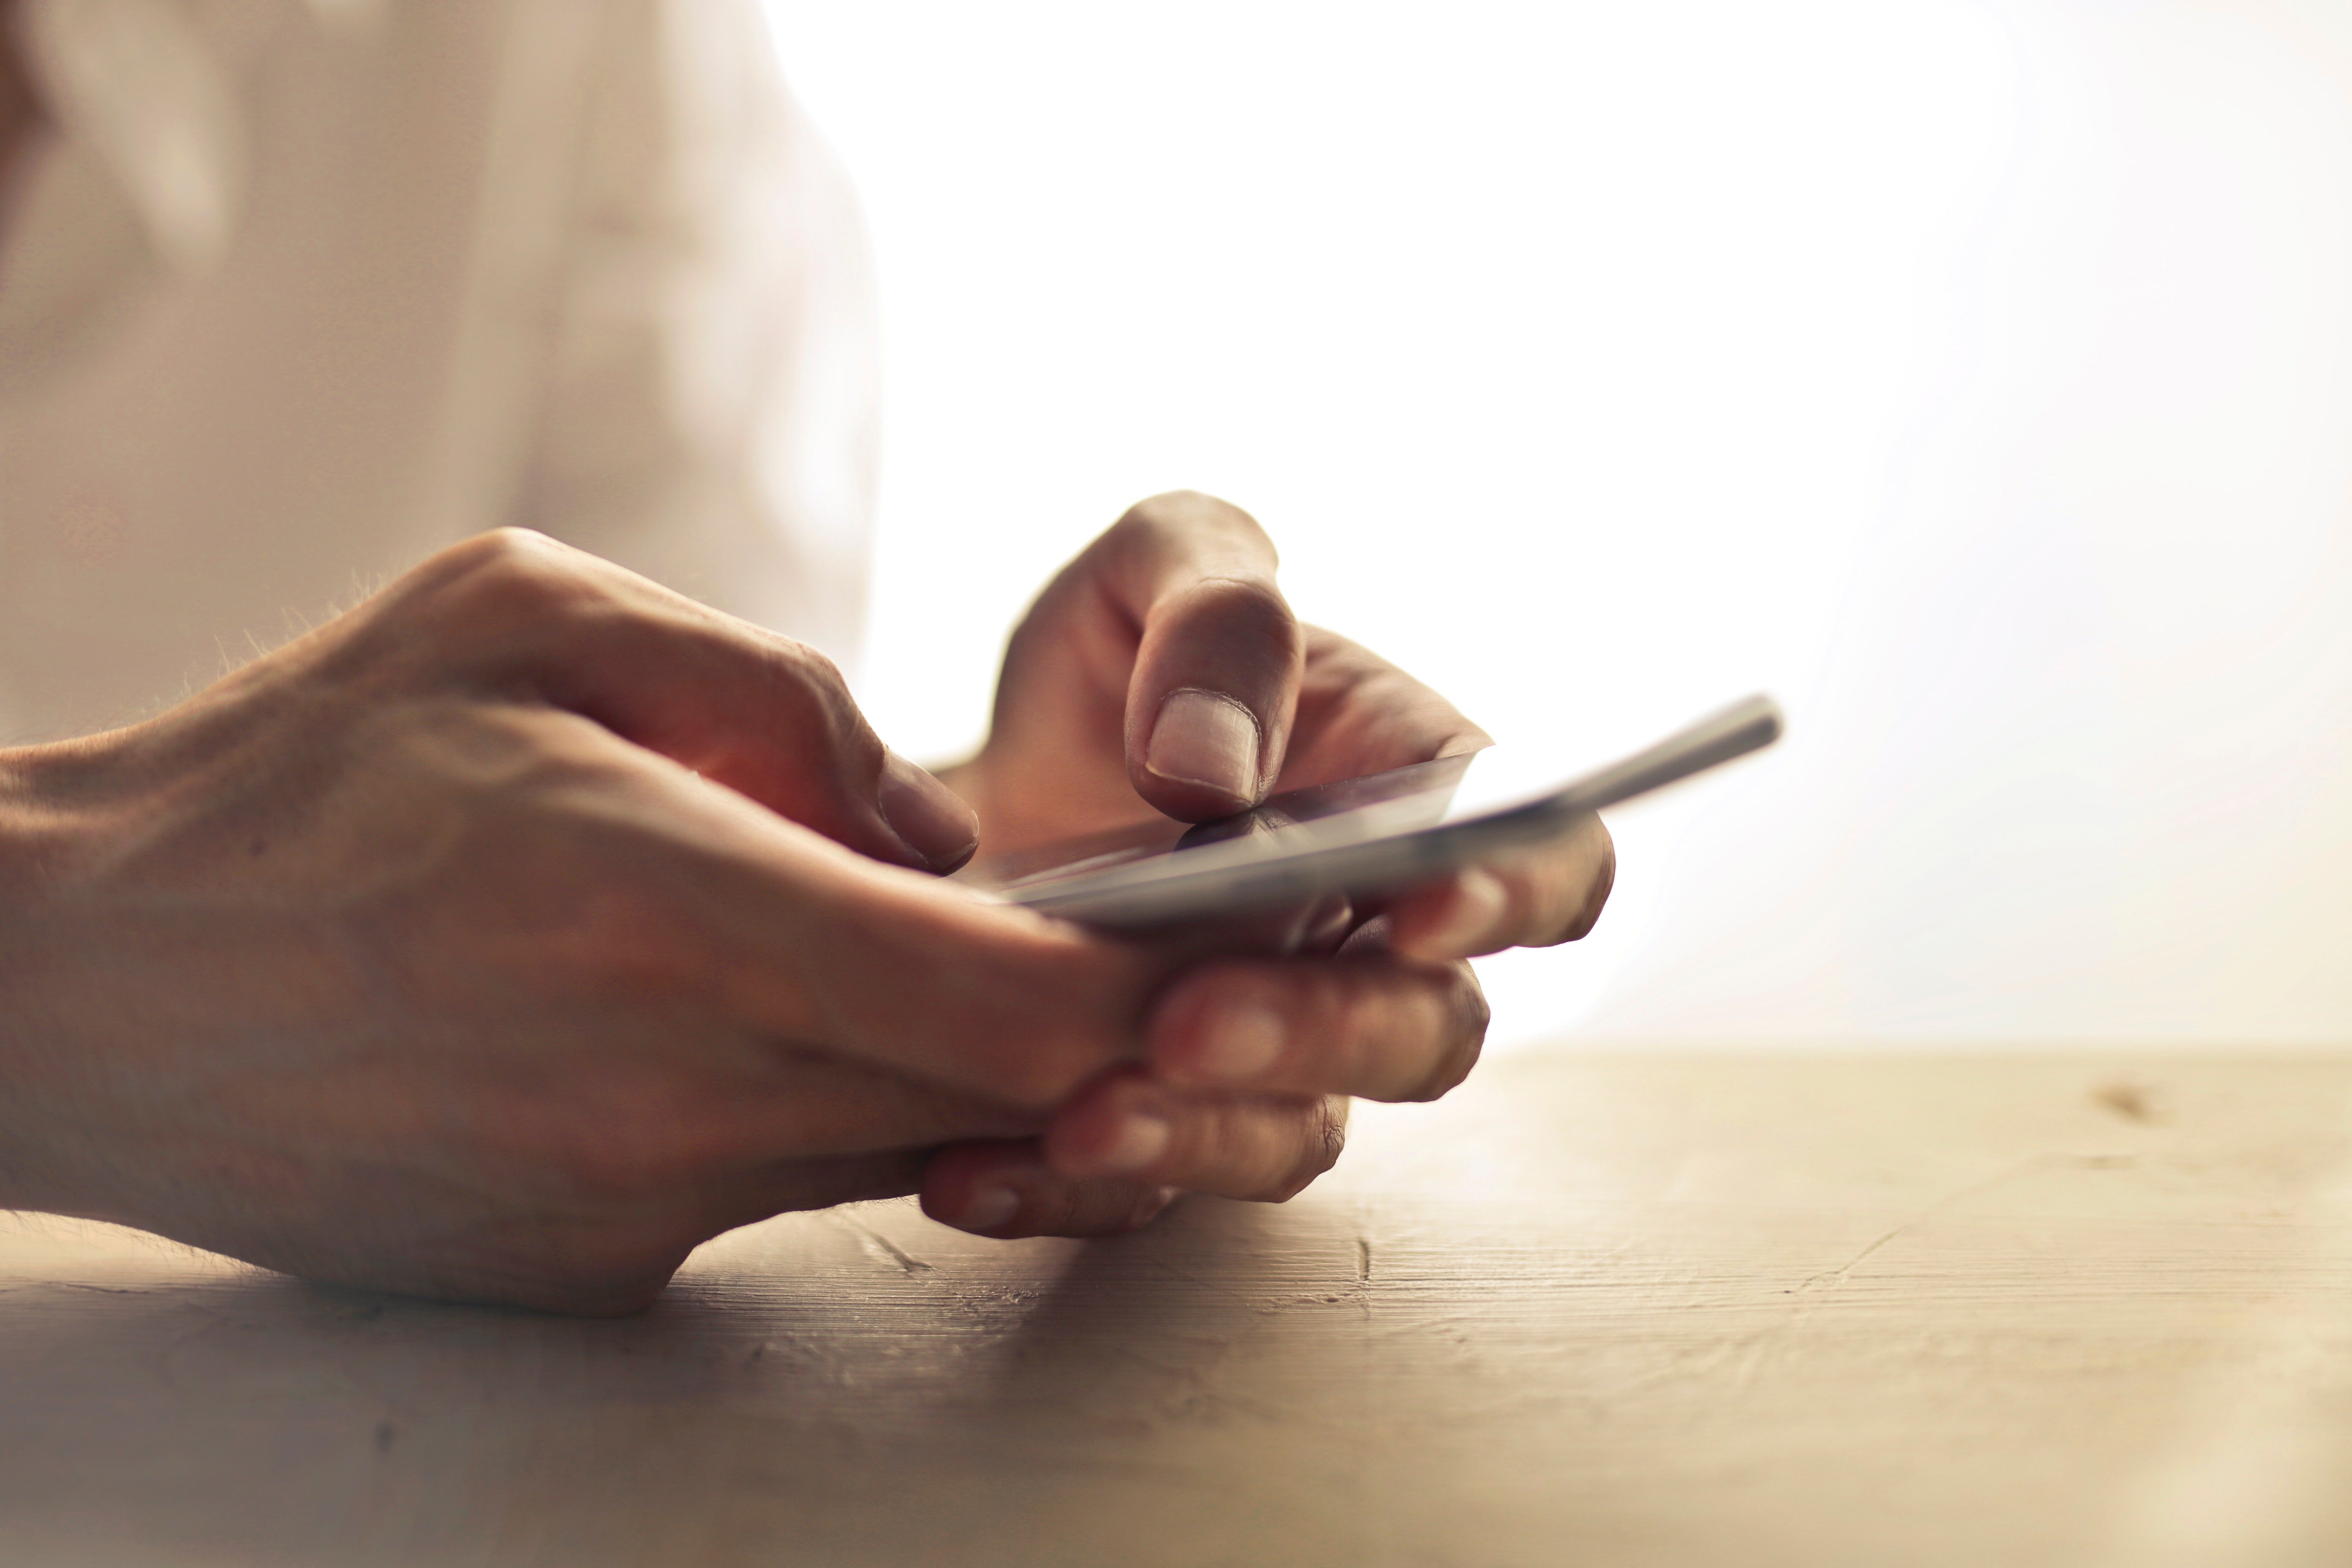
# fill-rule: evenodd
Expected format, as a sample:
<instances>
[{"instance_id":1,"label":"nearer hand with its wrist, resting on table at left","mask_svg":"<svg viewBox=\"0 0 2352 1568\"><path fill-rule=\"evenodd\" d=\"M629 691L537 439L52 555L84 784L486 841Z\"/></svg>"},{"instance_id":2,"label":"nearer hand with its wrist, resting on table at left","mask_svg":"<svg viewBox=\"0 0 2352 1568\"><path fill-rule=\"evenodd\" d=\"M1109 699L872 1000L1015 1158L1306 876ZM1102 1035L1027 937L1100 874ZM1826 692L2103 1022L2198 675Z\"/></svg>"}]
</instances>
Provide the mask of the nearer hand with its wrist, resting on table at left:
<instances>
[{"instance_id":1,"label":"nearer hand with its wrist, resting on table at left","mask_svg":"<svg viewBox=\"0 0 2352 1568\"><path fill-rule=\"evenodd\" d=\"M971 842L809 649L459 545L160 719L0 755L0 1206L637 1307L1136 1058L1174 959L938 882Z\"/></svg>"}]
</instances>

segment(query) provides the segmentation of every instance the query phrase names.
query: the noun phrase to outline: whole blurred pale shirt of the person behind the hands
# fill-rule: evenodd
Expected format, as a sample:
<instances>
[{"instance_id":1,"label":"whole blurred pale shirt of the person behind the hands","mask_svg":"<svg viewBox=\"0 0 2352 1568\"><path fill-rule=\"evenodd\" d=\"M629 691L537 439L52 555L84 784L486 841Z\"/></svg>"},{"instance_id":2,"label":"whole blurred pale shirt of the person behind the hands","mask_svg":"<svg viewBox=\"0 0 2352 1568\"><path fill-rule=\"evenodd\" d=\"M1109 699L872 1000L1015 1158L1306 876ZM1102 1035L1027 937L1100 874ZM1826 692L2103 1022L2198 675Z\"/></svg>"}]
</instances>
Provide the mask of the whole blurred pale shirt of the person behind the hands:
<instances>
[{"instance_id":1,"label":"whole blurred pale shirt of the person behind the hands","mask_svg":"<svg viewBox=\"0 0 2352 1568\"><path fill-rule=\"evenodd\" d=\"M753 0L28 0L0 743L527 524L854 651L856 209Z\"/></svg>"}]
</instances>

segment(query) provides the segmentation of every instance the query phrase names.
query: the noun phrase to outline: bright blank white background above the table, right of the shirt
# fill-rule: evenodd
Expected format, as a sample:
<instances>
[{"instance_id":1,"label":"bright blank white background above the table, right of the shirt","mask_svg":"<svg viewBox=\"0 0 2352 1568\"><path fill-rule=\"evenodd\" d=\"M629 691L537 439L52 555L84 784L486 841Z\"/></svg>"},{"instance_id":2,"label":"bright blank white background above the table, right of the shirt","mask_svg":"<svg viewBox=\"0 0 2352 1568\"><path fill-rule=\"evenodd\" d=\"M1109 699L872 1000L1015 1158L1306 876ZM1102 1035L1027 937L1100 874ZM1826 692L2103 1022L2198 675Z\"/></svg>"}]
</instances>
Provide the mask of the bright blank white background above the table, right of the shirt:
<instances>
[{"instance_id":1,"label":"bright blank white background above the table, right of the shirt","mask_svg":"<svg viewBox=\"0 0 2352 1568\"><path fill-rule=\"evenodd\" d=\"M771 12L901 750L1190 484L1503 738L1792 712L1613 816L1503 1041L2352 1039L2352 7Z\"/></svg>"}]
</instances>

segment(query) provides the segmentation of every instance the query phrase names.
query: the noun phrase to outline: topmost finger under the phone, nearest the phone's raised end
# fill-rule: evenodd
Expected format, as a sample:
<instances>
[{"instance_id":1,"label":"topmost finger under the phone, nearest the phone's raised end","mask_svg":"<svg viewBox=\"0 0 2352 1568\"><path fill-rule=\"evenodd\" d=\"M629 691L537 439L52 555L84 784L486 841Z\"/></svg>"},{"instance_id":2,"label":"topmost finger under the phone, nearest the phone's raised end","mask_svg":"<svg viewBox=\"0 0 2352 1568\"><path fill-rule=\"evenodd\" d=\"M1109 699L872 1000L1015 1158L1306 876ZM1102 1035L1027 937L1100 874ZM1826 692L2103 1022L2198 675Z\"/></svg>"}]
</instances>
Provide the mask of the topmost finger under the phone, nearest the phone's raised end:
<instances>
[{"instance_id":1,"label":"topmost finger under the phone, nearest the phone's raised end","mask_svg":"<svg viewBox=\"0 0 2352 1568\"><path fill-rule=\"evenodd\" d=\"M1475 865L1390 898L1388 940L1425 961L1573 943L1599 922L1613 884L1616 844L1597 816L1583 816L1515 860Z\"/></svg>"}]
</instances>

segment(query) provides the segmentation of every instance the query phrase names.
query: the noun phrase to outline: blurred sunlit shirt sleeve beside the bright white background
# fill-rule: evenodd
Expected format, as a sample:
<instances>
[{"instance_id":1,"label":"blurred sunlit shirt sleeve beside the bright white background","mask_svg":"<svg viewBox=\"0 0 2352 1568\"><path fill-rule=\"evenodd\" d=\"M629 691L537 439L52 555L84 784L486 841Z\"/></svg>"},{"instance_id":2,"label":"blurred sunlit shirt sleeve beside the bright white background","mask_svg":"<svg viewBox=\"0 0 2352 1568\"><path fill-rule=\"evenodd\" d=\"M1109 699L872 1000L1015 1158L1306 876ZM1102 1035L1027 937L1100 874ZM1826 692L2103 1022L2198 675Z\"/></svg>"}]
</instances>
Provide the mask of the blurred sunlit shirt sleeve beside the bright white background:
<instances>
[{"instance_id":1,"label":"blurred sunlit shirt sleeve beside the bright white background","mask_svg":"<svg viewBox=\"0 0 2352 1568\"><path fill-rule=\"evenodd\" d=\"M847 663L875 489L861 214L753 0L602 12L513 520Z\"/></svg>"}]
</instances>

